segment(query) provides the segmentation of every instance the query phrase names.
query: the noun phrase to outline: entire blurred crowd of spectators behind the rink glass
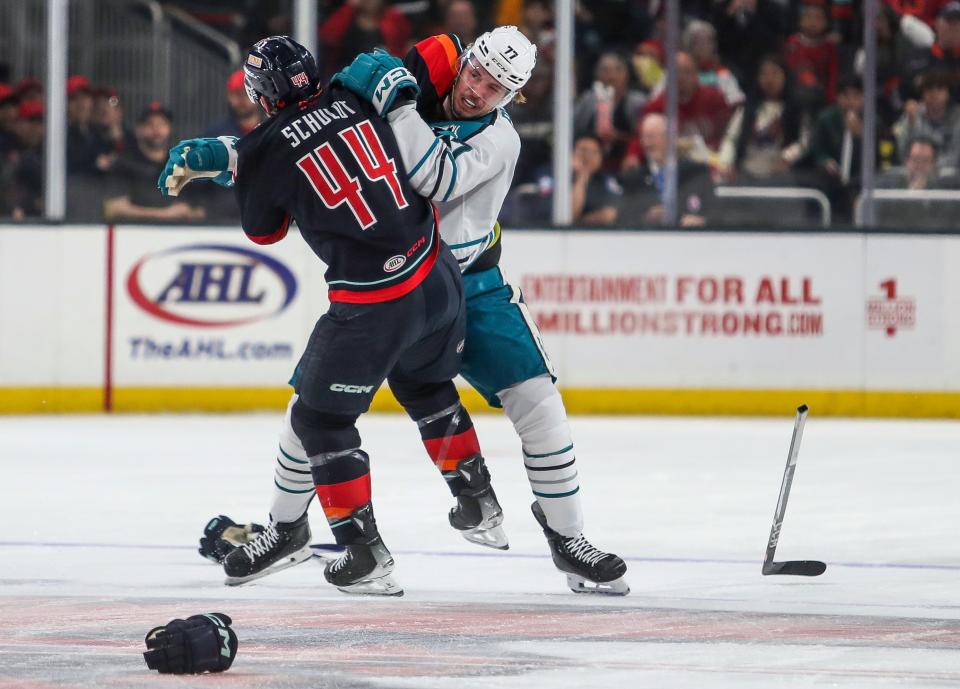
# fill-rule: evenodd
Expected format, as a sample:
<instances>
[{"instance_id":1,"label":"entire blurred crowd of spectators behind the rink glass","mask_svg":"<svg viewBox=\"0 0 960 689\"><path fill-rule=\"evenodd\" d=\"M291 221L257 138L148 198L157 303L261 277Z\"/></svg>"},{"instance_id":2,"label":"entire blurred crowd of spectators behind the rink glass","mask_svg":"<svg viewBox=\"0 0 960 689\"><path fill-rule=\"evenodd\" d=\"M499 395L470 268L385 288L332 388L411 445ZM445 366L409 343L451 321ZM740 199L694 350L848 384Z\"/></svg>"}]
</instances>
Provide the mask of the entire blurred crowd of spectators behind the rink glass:
<instances>
[{"instance_id":1,"label":"entire blurred crowd of spectators behind the rink glass","mask_svg":"<svg viewBox=\"0 0 960 689\"><path fill-rule=\"evenodd\" d=\"M169 2L246 47L291 32L291 0ZM577 3L570 170L574 221L664 222L667 121L664 0ZM684 0L678 93L679 223L722 223L716 187L805 187L849 223L860 192L864 140L862 0ZM553 180L552 0L320 0L319 61L330 76L360 51L403 56L433 33L469 43L514 24L539 48L510 106L523 141L503 218L548 223ZM881 0L877 27L877 186L958 189L960 0ZM171 144L171 113L155 104L125 117L122 94L71 76L68 213L77 219L232 222L229 192L192 185L155 192ZM261 114L242 73L225 85L222 121L204 136L242 135ZM0 216L42 215L43 101L29 77L0 83ZM132 115L132 114L130 114ZM127 125L132 124L132 129ZM195 190L194 190L195 188Z\"/></svg>"}]
</instances>

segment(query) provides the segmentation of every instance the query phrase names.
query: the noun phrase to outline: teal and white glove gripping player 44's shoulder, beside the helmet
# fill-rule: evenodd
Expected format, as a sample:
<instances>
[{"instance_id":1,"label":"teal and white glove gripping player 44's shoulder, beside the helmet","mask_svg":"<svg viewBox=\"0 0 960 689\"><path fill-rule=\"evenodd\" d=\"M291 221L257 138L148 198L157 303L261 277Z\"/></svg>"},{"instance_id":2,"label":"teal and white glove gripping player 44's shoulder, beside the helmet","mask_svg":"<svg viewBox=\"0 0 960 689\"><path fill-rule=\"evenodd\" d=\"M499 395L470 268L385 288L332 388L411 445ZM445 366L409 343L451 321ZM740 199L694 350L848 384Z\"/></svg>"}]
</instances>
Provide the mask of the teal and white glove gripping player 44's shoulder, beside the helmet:
<instances>
[{"instance_id":1,"label":"teal and white glove gripping player 44's shoulder, beside the helmet","mask_svg":"<svg viewBox=\"0 0 960 689\"><path fill-rule=\"evenodd\" d=\"M417 80L403 61L382 50L360 53L349 67L334 74L332 81L373 105L381 117L394 105L415 100L420 93Z\"/></svg>"}]
</instances>

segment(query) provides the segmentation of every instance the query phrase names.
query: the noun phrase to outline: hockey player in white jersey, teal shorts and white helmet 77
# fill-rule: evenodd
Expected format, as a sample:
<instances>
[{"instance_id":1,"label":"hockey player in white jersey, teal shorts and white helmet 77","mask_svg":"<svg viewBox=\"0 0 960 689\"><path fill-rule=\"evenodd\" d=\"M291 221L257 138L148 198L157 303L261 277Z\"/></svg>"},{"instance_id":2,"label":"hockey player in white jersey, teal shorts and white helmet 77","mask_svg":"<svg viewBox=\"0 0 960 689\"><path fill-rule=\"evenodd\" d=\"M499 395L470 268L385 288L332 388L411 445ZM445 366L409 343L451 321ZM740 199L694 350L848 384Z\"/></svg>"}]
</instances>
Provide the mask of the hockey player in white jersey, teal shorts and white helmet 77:
<instances>
[{"instance_id":1,"label":"hockey player in white jersey, teal shorts and white helmet 77","mask_svg":"<svg viewBox=\"0 0 960 689\"><path fill-rule=\"evenodd\" d=\"M622 578L626 564L583 537L574 444L553 367L520 290L497 265L497 215L520 152L504 108L535 64L535 46L515 27L503 26L465 50L456 36L430 37L411 50L404 66L384 53L363 54L334 80L381 110L413 187L437 206L441 235L460 263L467 296L460 372L492 406L504 408L520 436L536 497L532 510L554 563L576 592L623 595L629 592ZM418 99L404 101L413 79ZM431 451L426 437L424 443ZM434 451L431 456L445 475L456 474L451 460L465 459ZM465 537L505 547L495 496L481 508L483 519L464 530Z\"/></svg>"}]
</instances>

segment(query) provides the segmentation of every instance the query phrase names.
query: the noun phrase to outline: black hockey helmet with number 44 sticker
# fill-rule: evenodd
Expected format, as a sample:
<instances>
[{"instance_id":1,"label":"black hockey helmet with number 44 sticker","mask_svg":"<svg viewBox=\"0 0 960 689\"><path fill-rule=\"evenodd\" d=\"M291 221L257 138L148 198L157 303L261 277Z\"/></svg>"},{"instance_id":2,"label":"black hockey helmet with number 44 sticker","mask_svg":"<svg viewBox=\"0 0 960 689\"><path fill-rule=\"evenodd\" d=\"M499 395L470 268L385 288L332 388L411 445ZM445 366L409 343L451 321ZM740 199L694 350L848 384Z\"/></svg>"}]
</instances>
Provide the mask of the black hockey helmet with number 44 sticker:
<instances>
[{"instance_id":1,"label":"black hockey helmet with number 44 sticker","mask_svg":"<svg viewBox=\"0 0 960 689\"><path fill-rule=\"evenodd\" d=\"M320 68L310 51L289 36L269 36L257 41L243 63L247 97L273 113L290 103L309 98L320 88Z\"/></svg>"}]
</instances>

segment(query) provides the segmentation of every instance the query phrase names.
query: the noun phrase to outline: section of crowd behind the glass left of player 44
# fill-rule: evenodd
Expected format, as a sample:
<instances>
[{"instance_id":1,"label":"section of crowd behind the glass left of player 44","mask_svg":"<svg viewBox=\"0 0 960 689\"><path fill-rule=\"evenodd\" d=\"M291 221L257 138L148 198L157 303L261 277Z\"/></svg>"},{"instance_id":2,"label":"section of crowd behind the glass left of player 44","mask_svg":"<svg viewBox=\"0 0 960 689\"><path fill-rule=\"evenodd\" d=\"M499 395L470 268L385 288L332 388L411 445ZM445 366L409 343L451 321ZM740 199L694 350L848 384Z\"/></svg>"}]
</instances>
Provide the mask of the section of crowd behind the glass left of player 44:
<instances>
[{"instance_id":1,"label":"section of crowd behind the glass left of player 44","mask_svg":"<svg viewBox=\"0 0 960 689\"><path fill-rule=\"evenodd\" d=\"M239 218L233 194L191 185L179 198L157 191L157 178L175 142L173 113L159 102L136 114L132 127L120 95L82 75L66 82L67 218L77 222L156 221L229 224ZM242 136L263 114L243 88L243 73L225 85L225 116L202 136ZM0 83L0 217L42 217L45 124L43 89L26 77Z\"/></svg>"}]
</instances>

